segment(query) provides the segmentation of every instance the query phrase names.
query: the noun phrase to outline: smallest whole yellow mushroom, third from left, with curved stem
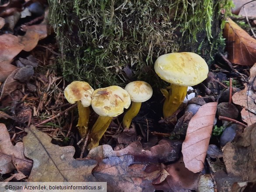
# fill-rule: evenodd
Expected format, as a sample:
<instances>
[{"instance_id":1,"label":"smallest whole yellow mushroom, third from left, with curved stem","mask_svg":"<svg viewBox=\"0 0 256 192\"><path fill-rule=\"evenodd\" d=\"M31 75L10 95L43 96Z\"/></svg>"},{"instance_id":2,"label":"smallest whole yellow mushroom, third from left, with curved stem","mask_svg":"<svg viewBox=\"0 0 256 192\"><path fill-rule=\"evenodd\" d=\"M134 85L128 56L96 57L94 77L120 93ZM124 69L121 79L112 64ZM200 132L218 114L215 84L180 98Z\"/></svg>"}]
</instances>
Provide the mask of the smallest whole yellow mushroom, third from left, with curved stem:
<instances>
[{"instance_id":1,"label":"smallest whole yellow mushroom, third from left, with curved stem","mask_svg":"<svg viewBox=\"0 0 256 192\"><path fill-rule=\"evenodd\" d=\"M124 88L130 95L132 106L123 116L123 128L130 128L132 119L139 113L142 102L149 100L153 94L152 87L145 81L133 81Z\"/></svg>"}]
</instances>

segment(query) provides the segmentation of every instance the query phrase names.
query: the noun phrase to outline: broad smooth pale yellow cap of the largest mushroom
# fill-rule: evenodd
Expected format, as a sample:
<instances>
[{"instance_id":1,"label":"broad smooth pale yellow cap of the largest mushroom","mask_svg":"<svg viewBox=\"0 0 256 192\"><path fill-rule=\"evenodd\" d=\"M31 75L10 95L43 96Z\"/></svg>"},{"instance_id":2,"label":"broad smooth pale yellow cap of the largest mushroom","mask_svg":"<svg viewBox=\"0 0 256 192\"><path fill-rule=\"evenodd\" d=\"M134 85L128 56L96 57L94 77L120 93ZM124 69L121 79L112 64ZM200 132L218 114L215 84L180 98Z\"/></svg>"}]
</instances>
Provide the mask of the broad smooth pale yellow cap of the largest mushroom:
<instances>
[{"instance_id":1,"label":"broad smooth pale yellow cap of the largest mushroom","mask_svg":"<svg viewBox=\"0 0 256 192\"><path fill-rule=\"evenodd\" d=\"M171 84L193 86L207 78L208 66L193 52L174 52L159 56L154 63L158 76Z\"/></svg>"}]
</instances>

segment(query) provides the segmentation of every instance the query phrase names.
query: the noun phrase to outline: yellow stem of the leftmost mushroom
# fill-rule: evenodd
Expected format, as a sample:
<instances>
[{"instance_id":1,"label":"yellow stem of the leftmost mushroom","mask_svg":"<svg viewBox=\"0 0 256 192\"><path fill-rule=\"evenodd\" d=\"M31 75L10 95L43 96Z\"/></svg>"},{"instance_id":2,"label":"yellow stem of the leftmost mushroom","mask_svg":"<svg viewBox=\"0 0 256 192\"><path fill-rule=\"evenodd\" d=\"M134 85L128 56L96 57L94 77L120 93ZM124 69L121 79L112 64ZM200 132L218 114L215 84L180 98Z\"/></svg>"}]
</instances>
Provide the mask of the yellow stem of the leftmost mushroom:
<instances>
[{"instance_id":1,"label":"yellow stem of the leftmost mushroom","mask_svg":"<svg viewBox=\"0 0 256 192\"><path fill-rule=\"evenodd\" d=\"M78 115L79 115L77 126L78 126L79 134L81 138L83 138L87 134L88 120L89 120L91 111L89 107L84 107L81 101L77 101L77 108L78 108Z\"/></svg>"}]
</instances>

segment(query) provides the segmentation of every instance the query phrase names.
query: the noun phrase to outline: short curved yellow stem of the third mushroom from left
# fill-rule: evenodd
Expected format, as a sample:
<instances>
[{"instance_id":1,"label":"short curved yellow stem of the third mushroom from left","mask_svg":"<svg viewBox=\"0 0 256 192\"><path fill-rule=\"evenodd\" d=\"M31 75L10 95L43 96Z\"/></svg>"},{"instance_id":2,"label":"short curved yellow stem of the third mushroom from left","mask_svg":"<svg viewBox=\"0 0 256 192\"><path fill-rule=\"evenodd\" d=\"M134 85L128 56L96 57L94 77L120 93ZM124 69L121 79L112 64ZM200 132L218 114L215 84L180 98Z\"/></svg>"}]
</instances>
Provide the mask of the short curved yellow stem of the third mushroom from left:
<instances>
[{"instance_id":1,"label":"short curved yellow stem of the third mushroom from left","mask_svg":"<svg viewBox=\"0 0 256 192\"><path fill-rule=\"evenodd\" d=\"M123 128L130 128L133 118L138 115L140 111L141 102L132 102L131 108L123 116Z\"/></svg>"}]
</instances>

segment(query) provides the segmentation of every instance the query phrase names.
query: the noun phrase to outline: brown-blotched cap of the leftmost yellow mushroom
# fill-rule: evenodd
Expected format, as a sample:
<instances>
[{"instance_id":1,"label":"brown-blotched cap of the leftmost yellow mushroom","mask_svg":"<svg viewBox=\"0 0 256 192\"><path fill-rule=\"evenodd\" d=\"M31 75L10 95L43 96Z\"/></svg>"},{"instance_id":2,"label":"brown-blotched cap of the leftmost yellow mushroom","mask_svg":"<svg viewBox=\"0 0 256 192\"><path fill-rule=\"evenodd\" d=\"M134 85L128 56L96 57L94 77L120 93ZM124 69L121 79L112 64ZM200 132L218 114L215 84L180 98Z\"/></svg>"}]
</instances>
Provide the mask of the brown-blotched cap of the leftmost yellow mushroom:
<instances>
[{"instance_id":1,"label":"brown-blotched cap of the leftmost yellow mushroom","mask_svg":"<svg viewBox=\"0 0 256 192\"><path fill-rule=\"evenodd\" d=\"M94 89L84 81L73 81L65 90L64 95L67 101L74 104L76 101L81 101L84 107L91 105L91 94Z\"/></svg>"}]
</instances>

